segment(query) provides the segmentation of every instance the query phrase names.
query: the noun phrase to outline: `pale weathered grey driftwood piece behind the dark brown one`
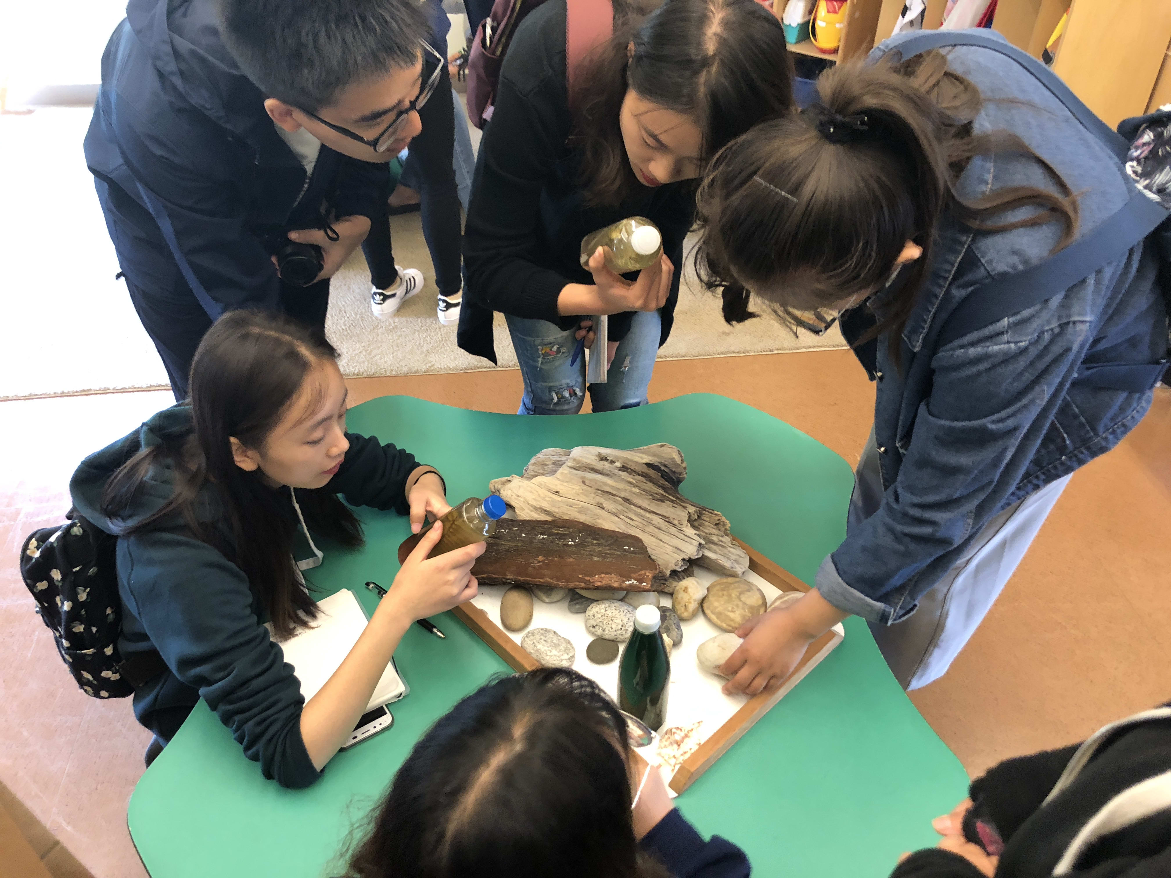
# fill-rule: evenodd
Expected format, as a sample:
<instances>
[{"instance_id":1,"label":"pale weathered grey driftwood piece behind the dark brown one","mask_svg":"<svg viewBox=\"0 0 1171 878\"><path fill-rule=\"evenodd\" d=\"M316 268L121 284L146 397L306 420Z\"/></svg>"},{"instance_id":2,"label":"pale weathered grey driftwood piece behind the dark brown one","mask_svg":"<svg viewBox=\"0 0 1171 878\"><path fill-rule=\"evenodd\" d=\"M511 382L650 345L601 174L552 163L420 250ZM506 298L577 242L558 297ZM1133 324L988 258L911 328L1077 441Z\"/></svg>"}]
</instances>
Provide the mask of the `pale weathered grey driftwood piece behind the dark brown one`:
<instances>
[{"instance_id":1,"label":"pale weathered grey driftwood piece behind the dark brown one","mask_svg":"<svg viewBox=\"0 0 1171 878\"><path fill-rule=\"evenodd\" d=\"M726 576L739 576L748 556L733 541L727 519L679 493L687 476L683 453L672 445L631 451L581 446L546 448L523 475L491 483L520 519L569 519L634 534L664 574L692 560Z\"/></svg>"}]
</instances>

